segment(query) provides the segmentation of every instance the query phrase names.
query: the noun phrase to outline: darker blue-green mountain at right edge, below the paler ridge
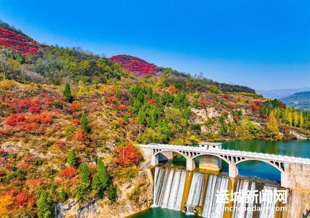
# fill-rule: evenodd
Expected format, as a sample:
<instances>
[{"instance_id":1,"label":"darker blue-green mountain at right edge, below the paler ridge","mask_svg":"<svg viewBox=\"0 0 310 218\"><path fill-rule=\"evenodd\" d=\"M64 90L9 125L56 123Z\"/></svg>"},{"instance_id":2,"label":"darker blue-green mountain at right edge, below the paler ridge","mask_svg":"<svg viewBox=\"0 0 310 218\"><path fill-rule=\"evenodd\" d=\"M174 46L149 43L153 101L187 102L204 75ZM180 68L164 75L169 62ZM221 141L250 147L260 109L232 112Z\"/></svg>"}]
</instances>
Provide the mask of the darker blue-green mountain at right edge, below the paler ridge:
<instances>
[{"instance_id":1,"label":"darker blue-green mountain at right edge, below the paler ridge","mask_svg":"<svg viewBox=\"0 0 310 218\"><path fill-rule=\"evenodd\" d=\"M286 106L310 110L310 92L298 92L280 99Z\"/></svg>"}]
</instances>

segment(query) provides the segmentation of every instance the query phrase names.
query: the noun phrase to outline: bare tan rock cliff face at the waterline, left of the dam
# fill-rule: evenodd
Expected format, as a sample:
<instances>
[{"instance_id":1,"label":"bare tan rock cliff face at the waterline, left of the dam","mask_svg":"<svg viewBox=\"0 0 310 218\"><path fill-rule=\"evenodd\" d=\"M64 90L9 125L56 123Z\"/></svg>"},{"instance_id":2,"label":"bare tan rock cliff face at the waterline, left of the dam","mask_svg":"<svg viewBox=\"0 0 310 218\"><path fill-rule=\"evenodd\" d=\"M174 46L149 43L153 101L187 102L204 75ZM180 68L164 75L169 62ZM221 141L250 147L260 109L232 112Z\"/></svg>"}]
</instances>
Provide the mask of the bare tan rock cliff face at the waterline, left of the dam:
<instances>
[{"instance_id":1,"label":"bare tan rock cliff face at the waterline, left of the dam","mask_svg":"<svg viewBox=\"0 0 310 218\"><path fill-rule=\"evenodd\" d=\"M116 185L116 202L110 204L107 198L84 203L69 199L55 205L56 218L123 218L152 204L153 187L144 171L132 181Z\"/></svg>"}]
</instances>

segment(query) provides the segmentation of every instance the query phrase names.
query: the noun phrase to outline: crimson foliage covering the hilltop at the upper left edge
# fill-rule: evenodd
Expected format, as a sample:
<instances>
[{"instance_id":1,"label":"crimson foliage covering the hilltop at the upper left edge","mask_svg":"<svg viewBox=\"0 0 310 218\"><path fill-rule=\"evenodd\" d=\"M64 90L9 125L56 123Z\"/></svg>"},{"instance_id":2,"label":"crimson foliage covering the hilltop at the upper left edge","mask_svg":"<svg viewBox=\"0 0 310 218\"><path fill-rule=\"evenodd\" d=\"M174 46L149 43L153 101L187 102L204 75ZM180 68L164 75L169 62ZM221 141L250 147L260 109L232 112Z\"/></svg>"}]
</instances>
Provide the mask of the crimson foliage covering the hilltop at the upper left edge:
<instances>
[{"instance_id":1,"label":"crimson foliage covering the hilltop at the upper left edge","mask_svg":"<svg viewBox=\"0 0 310 218\"><path fill-rule=\"evenodd\" d=\"M14 50L15 53L28 56L37 53L39 46L43 47L43 45L39 45L38 42L25 34L0 27L0 47L9 48Z\"/></svg>"}]
</instances>

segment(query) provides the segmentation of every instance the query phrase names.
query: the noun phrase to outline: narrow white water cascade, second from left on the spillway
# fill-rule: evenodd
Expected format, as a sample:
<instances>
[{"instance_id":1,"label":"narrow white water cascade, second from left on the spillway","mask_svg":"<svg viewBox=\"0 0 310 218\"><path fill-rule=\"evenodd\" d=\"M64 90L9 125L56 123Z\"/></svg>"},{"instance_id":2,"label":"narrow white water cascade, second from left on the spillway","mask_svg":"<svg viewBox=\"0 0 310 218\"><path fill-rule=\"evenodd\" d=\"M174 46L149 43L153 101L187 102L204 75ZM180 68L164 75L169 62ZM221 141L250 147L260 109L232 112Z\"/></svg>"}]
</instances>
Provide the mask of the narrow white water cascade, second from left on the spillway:
<instances>
[{"instance_id":1,"label":"narrow white water cascade, second from left on the spillway","mask_svg":"<svg viewBox=\"0 0 310 218\"><path fill-rule=\"evenodd\" d=\"M201 205L203 178L203 173L194 172L186 201L187 213L193 213L194 207Z\"/></svg>"}]
</instances>

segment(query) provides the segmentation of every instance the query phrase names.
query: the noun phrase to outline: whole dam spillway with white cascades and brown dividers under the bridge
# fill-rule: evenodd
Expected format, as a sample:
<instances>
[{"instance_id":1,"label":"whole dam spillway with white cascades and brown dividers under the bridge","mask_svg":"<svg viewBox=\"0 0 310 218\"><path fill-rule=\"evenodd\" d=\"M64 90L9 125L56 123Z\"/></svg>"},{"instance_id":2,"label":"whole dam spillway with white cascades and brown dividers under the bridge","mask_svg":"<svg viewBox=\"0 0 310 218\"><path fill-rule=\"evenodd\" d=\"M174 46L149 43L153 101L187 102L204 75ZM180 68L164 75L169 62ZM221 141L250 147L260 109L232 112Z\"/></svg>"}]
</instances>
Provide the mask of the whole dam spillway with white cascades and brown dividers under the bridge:
<instances>
[{"instance_id":1,"label":"whole dam spillway with white cascades and brown dividers under the bridge","mask_svg":"<svg viewBox=\"0 0 310 218\"><path fill-rule=\"evenodd\" d=\"M225 207L229 204L219 202L217 198L219 193L225 193L225 191L228 194L231 191L235 193L251 193L255 190L272 192L278 190L278 186L246 179L237 179L235 183L232 183L228 176L201 172L193 172L191 179L186 180L186 173L186 170L183 169L155 167L153 206L181 210L203 218L276 218L276 203L258 203L254 199L252 201L236 201L232 202L233 210L226 213ZM186 185L189 186L187 193ZM262 211L251 210L256 206L262 208ZM250 210L238 210L237 208L240 207Z\"/></svg>"}]
</instances>

